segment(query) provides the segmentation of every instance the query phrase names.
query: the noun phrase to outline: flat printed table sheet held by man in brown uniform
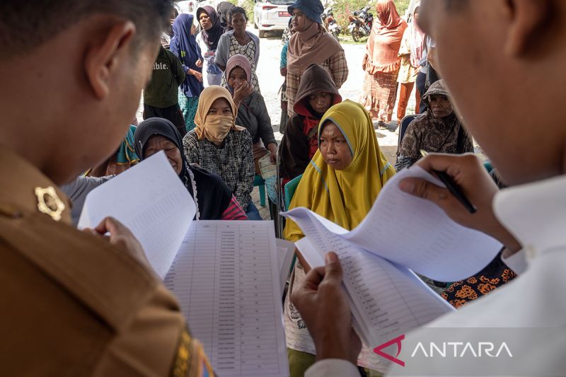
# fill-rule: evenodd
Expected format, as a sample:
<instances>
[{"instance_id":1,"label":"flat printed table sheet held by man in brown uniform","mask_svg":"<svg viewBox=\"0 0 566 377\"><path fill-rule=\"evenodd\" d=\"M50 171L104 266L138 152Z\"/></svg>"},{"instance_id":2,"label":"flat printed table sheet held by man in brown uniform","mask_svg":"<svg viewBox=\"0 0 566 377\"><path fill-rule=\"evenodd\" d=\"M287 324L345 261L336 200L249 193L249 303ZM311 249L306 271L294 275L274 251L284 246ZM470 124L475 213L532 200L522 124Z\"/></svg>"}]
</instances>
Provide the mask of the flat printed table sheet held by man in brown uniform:
<instances>
[{"instance_id":1,"label":"flat printed table sheet held by man in brown uniform","mask_svg":"<svg viewBox=\"0 0 566 377\"><path fill-rule=\"evenodd\" d=\"M193 221L165 284L218 376L289 376L272 221Z\"/></svg>"}]
</instances>

